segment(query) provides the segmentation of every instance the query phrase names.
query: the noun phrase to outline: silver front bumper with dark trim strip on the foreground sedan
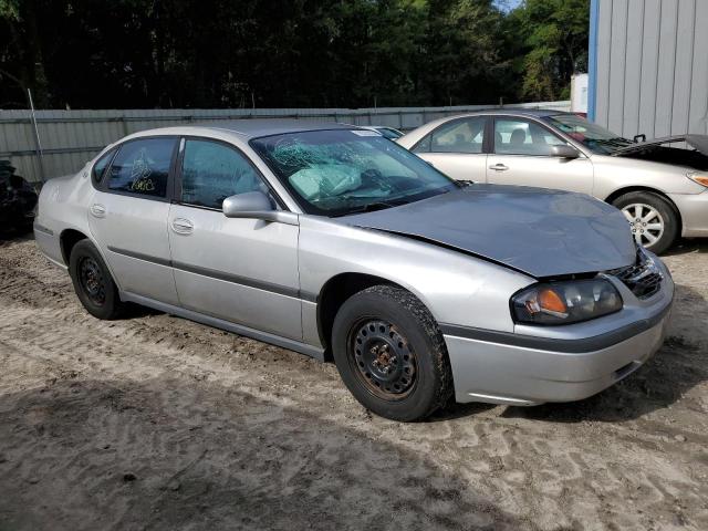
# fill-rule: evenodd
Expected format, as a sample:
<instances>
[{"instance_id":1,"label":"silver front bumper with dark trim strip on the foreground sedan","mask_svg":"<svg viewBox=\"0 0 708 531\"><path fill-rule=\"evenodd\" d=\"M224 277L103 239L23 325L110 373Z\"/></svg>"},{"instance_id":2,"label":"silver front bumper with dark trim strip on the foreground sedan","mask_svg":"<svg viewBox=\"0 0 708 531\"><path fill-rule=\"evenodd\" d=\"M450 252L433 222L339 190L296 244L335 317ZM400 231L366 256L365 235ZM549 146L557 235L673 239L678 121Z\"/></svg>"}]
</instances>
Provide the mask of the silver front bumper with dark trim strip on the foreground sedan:
<instances>
[{"instance_id":1,"label":"silver front bumper with dark trim strip on the foreground sedan","mask_svg":"<svg viewBox=\"0 0 708 531\"><path fill-rule=\"evenodd\" d=\"M647 301L579 325L514 333L442 326L459 403L537 405L592 396L641 367L662 346L674 283L662 266L662 290Z\"/></svg>"}]
</instances>

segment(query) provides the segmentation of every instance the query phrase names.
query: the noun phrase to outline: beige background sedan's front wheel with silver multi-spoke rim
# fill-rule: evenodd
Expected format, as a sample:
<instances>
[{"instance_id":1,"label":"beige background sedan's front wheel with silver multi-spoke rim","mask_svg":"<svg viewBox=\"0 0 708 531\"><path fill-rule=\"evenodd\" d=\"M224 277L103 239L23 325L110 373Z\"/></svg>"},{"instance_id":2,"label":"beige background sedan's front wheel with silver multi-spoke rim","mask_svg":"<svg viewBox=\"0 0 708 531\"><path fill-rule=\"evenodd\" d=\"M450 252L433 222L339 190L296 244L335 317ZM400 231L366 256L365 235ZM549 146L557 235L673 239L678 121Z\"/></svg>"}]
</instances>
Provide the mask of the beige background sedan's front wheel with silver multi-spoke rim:
<instances>
[{"instance_id":1,"label":"beige background sedan's front wheel with silver multi-spoke rim","mask_svg":"<svg viewBox=\"0 0 708 531\"><path fill-rule=\"evenodd\" d=\"M622 210L635 241L652 252L666 251L678 236L678 214L658 194L632 191L620 196L613 205Z\"/></svg>"}]
</instances>

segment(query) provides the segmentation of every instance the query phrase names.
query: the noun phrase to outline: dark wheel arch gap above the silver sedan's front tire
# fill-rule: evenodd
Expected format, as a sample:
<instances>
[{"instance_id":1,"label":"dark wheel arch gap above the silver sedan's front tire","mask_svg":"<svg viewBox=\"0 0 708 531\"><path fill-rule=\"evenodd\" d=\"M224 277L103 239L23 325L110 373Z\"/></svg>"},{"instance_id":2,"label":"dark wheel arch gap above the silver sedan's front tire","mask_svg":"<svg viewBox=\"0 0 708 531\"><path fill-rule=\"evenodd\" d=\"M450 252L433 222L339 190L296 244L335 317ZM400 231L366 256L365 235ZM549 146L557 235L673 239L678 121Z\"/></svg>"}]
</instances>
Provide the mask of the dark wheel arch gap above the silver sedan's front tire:
<instances>
[{"instance_id":1,"label":"dark wheel arch gap above the silver sedan's front tire","mask_svg":"<svg viewBox=\"0 0 708 531\"><path fill-rule=\"evenodd\" d=\"M334 317L340 308L342 308L342 304L360 291L379 284L393 285L406 290L416 296L430 312L430 309L418 293L391 279L361 272L339 273L324 283L317 295L317 333L320 335L320 342L324 346L325 362L333 361L332 327L334 325ZM430 312L430 314L433 315L433 312Z\"/></svg>"}]
</instances>

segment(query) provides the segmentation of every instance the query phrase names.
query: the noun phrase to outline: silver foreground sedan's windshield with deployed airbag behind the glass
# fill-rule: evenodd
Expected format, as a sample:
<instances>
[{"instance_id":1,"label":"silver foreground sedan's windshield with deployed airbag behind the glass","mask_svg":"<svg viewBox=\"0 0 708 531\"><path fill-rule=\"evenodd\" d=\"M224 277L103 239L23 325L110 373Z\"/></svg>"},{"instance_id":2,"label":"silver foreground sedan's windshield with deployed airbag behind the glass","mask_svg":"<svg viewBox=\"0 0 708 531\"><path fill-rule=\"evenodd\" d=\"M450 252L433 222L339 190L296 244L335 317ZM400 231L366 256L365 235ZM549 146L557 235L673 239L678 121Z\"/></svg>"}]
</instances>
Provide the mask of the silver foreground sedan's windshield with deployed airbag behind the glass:
<instances>
[{"instance_id":1,"label":"silver foreground sedan's windshield with deployed airbag behind the glass","mask_svg":"<svg viewBox=\"0 0 708 531\"><path fill-rule=\"evenodd\" d=\"M251 145L308 214L345 216L391 208L458 185L369 131L313 131Z\"/></svg>"}]
</instances>

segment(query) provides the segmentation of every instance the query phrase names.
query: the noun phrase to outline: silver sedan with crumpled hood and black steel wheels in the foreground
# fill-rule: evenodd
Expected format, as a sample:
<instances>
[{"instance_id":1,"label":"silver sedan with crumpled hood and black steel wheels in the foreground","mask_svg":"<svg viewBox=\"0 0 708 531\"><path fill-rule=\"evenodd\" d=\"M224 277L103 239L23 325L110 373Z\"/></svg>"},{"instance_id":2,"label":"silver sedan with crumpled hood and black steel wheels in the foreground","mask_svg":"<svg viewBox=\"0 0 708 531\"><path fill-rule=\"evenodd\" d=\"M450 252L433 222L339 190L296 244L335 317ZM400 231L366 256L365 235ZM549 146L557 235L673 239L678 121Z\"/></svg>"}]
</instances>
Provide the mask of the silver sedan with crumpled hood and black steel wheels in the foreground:
<instances>
[{"instance_id":1,"label":"silver sedan with crumpled hood and black steel wheels in the foreground","mask_svg":"<svg viewBox=\"0 0 708 531\"><path fill-rule=\"evenodd\" d=\"M598 393L659 347L674 296L613 207L464 186L352 126L131 135L44 186L34 233L94 316L138 303L334 361L398 420Z\"/></svg>"}]
</instances>

